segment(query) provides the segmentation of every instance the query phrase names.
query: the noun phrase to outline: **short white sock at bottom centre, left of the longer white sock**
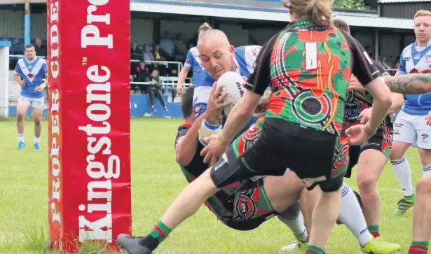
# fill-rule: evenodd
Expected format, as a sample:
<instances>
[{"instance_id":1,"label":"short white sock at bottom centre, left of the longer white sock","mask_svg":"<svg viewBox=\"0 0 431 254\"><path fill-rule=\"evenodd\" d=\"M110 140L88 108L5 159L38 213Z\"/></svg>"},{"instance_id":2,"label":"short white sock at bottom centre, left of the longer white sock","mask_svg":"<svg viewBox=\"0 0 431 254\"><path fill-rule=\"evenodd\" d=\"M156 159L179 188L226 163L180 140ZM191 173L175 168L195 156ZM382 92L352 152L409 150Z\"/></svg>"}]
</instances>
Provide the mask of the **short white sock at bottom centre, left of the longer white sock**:
<instances>
[{"instance_id":1,"label":"short white sock at bottom centre, left of the longer white sock","mask_svg":"<svg viewBox=\"0 0 431 254\"><path fill-rule=\"evenodd\" d=\"M282 221L282 223L285 223L292 232L294 232L296 239L307 241L307 229L306 225L304 225L303 215L301 210L299 210L298 203L290 206L287 210L278 213L277 217Z\"/></svg>"}]
</instances>

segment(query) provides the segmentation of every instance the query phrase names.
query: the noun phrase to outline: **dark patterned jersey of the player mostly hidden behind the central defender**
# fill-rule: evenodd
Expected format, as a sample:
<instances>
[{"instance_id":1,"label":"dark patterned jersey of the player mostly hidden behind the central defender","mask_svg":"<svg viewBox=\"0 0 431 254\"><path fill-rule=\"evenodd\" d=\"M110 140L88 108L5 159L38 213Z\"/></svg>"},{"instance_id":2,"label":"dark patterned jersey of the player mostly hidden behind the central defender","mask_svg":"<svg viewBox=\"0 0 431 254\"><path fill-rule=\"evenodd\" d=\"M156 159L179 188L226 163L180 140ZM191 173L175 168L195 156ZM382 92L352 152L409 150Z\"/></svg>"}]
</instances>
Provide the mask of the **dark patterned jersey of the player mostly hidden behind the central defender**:
<instances>
[{"instance_id":1,"label":"dark patterned jersey of the player mostly hidden behind the central defender","mask_svg":"<svg viewBox=\"0 0 431 254\"><path fill-rule=\"evenodd\" d=\"M383 67L380 65L376 65L376 67L379 69L379 71L381 71L382 77L390 76L389 73L385 71L385 69L383 69ZM373 106L373 101L373 97L367 91L352 90L348 92L346 97L346 111L344 114L347 127L360 124L360 113L367 108L371 108L371 106ZM380 127L378 128L376 136L383 135L386 129L392 129L392 119L390 115L387 115L383 120Z\"/></svg>"}]
</instances>

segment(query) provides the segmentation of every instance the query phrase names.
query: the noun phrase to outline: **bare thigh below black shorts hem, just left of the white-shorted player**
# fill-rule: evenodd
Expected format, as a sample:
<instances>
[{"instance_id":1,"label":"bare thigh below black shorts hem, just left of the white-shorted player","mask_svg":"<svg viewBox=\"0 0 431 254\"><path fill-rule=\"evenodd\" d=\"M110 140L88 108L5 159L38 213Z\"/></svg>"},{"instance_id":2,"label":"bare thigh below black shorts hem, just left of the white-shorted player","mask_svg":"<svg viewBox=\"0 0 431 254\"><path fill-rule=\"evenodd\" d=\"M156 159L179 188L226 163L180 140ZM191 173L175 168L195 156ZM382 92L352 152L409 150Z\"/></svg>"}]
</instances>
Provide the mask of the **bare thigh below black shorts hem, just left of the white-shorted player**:
<instances>
[{"instance_id":1,"label":"bare thigh below black shorts hem, just left of the white-shorted player","mask_svg":"<svg viewBox=\"0 0 431 254\"><path fill-rule=\"evenodd\" d=\"M372 136L361 144L360 157L357 162L357 184L376 185L383 167L388 161L390 141L382 136Z\"/></svg>"}]
</instances>

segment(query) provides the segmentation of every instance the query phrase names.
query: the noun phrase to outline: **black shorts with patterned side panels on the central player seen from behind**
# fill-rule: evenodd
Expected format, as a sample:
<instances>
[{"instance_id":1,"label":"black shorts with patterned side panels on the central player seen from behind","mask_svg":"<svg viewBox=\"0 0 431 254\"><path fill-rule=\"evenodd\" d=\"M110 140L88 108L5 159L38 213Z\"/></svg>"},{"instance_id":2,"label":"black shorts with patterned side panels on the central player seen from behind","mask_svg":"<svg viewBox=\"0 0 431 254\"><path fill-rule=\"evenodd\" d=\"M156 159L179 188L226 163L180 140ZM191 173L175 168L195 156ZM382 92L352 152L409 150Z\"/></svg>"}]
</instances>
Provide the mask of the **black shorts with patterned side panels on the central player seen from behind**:
<instances>
[{"instance_id":1,"label":"black shorts with patterned side panels on the central player seen from behind","mask_svg":"<svg viewBox=\"0 0 431 254\"><path fill-rule=\"evenodd\" d=\"M260 121L260 122L259 122ZM348 166L348 139L277 118L258 120L211 169L217 188L252 176L282 176L287 168L309 190L341 188ZM243 144L246 144L244 146Z\"/></svg>"}]
</instances>

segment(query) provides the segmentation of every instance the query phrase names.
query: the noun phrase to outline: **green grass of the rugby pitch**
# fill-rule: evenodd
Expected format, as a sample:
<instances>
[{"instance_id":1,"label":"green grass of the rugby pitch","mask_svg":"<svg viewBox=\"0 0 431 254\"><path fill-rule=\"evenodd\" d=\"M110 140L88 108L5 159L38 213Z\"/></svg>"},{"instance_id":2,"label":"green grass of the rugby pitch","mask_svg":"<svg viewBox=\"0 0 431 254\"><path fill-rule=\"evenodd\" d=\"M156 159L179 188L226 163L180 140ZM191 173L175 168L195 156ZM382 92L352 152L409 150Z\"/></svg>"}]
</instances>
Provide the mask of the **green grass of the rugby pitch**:
<instances>
[{"instance_id":1,"label":"green grass of the rugby pitch","mask_svg":"<svg viewBox=\"0 0 431 254\"><path fill-rule=\"evenodd\" d=\"M144 235L186 185L175 163L174 139L180 120L132 119L132 216L133 233ZM32 148L32 122L27 121L25 150L16 150L13 120L0 121L0 253L48 253L47 122L43 122L42 151ZM422 170L417 150L407 157L416 184ZM357 189L355 181L348 181ZM381 231L385 240L402 245L406 252L411 241L411 211L402 218L390 213L402 192L390 164L379 181L382 197ZM292 234L277 219L269 220L252 232L235 232L217 221L205 206L178 227L163 242L158 253L243 254L278 253L293 241ZM331 254L357 253L356 239L337 226L329 239ZM102 253L98 246L85 246L80 253Z\"/></svg>"}]
</instances>

